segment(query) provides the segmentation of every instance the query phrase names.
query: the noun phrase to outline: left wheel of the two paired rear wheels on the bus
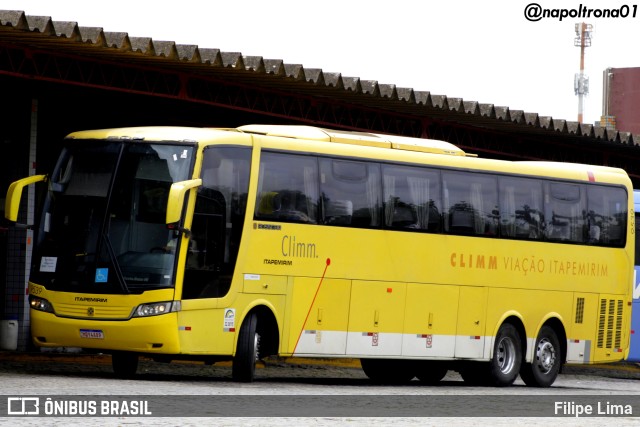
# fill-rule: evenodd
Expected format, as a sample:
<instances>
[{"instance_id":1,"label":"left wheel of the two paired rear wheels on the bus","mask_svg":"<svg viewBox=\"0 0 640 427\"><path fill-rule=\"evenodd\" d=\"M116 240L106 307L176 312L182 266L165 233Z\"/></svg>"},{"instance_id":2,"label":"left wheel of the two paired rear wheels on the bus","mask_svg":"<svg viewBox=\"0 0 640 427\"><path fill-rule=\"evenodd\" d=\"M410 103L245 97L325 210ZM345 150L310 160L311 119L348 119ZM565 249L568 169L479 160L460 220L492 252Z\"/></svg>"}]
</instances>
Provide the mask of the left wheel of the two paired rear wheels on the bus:
<instances>
[{"instance_id":1,"label":"left wheel of the two paired rear wheels on the bus","mask_svg":"<svg viewBox=\"0 0 640 427\"><path fill-rule=\"evenodd\" d=\"M522 365L522 343L518 330L510 323L504 323L498 330L491 358L491 384L504 387L518 378Z\"/></svg>"}]
</instances>

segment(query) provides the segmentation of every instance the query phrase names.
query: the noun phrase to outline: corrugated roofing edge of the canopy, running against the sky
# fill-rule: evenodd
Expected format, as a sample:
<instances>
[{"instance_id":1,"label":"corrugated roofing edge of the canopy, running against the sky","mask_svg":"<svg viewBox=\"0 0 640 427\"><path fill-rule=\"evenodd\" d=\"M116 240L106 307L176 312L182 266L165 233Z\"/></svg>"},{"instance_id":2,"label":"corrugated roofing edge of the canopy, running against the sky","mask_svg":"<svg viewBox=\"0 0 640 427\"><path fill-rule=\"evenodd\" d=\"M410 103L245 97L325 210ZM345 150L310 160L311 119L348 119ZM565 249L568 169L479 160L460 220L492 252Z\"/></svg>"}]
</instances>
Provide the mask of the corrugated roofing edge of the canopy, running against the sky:
<instances>
[{"instance_id":1,"label":"corrugated roofing edge of the canopy, running against the sky","mask_svg":"<svg viewBox=\"0 0 640 427\"><path fill-rule=\"evenodd\" d=\"M0 41L22 43L48 49L64 49L68 53L81 53L85 57L95 54L101 58L120 60L126 57L140 63L171 64L198 67L199 73L233 72L234 78L246 82L280 85L290 90L304 90L308 94L336 99L358 100L371 108L398 110L415 116L426 116L455 121L461 124L492 127L496 130L523 132L553 132L567 136L595 138L618 143L629 141L636 145L640 136L620 135L591 124L579 124L537 113L525 113L508 107L494 107L462 98L448 98L428 91L396 88L393 84L379 84L375 80L344 77L338 72L323 72L318 68L305 68L301 64L286 64L278 59L259 56L244 57L240 52L221 52L219 49L180 45L174 41L155 41L149 37L130 37L128 33L104 32L102 28L79 27L76 22L52 21L49 16L26 15L24 11L0 10ZM150 62L153 61L153 62ZM210 68L207 68L210 67ZM228 69L228 71L223 71ZM236 74L237 72L237 74ZM295 85L295 86L291 86ZM354 97L356 95L356 97Z\"/></svg>"}]
</instances>

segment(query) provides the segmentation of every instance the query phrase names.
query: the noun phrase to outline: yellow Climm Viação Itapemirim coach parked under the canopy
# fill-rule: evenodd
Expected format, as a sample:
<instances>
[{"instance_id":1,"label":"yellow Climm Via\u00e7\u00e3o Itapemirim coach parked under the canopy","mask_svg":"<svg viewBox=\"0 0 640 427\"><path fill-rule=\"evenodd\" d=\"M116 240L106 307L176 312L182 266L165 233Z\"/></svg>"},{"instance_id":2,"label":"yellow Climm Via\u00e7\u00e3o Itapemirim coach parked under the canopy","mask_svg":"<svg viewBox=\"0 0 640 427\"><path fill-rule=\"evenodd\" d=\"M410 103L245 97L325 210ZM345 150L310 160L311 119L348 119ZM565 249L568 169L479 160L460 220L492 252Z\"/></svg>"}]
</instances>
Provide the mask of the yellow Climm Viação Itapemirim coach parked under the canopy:
<instances>
[{"instance_id":1,"label":"yellow Climm Via\u00e7\u00e3o Itapemirim coach parked under the canopy","mask_svg":"<svg viewBox=\"0 0 640 427\"><path fill-rule=\"evenodd\" d=\"M548 387L629 349L633 190L620 169L481 159L310 126L70 134L44 181L33 342L112 354L360 359L379 382ZM24 214L22 214L24 216Z\"/></svg>"}]
</instances>

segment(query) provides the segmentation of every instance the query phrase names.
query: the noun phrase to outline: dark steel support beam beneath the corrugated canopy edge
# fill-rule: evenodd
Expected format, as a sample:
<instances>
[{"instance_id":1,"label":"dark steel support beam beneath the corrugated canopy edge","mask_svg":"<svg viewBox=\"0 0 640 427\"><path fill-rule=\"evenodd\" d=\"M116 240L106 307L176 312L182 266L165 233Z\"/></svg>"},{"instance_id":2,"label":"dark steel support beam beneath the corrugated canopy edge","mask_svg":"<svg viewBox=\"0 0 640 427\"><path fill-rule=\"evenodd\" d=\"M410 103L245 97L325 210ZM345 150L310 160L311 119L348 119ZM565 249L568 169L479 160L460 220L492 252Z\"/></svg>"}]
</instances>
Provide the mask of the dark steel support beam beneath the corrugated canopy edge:
<instances>
[{"instance_id":1,"label":"dark steel support beam beneath the corrugated canopy edge","mask_svg":"<svg viewBox=\"0 0 640 427\"><path fill-rule=\"evenodd\" d=\"M348 98L315 96L310 91L296 90L295 86L291 90L275 88L246 80L244 75L237 78L237 74L228 73L187 73L157 62L103 60L6 44L0 44L0 75L176 99L345 130L442 139L486 157L617 166L640 181L639 156L629 156L628 150L611 144L579 145L579 138L563 138L549 132L537 137L404 114L392 107L364 105L355 97L351 102Z\"/></svg>"}]
</instances>

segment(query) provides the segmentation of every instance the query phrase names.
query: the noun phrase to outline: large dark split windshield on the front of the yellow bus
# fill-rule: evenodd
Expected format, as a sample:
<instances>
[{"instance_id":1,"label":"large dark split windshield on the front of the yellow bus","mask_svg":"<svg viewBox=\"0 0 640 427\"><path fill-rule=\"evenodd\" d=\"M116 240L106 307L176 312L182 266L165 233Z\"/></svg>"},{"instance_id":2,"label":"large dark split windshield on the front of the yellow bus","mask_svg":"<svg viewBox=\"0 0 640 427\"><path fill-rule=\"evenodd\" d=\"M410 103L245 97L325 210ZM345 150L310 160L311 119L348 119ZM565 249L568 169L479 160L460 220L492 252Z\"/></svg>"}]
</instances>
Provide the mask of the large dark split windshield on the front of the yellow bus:
<instances>
[{"instance_id":1,"label":"large dark split windshield on the front of the yellow bus","mask_svg":"<svg viewBox=\"0 0 640 427\"><path fill-rule=\"evenodd\" d=\"M69 141L44 200L31 280L86 293L174 286L179 239L166 206L192 159L190 145Z\"/></svg>"}]
</instances>

